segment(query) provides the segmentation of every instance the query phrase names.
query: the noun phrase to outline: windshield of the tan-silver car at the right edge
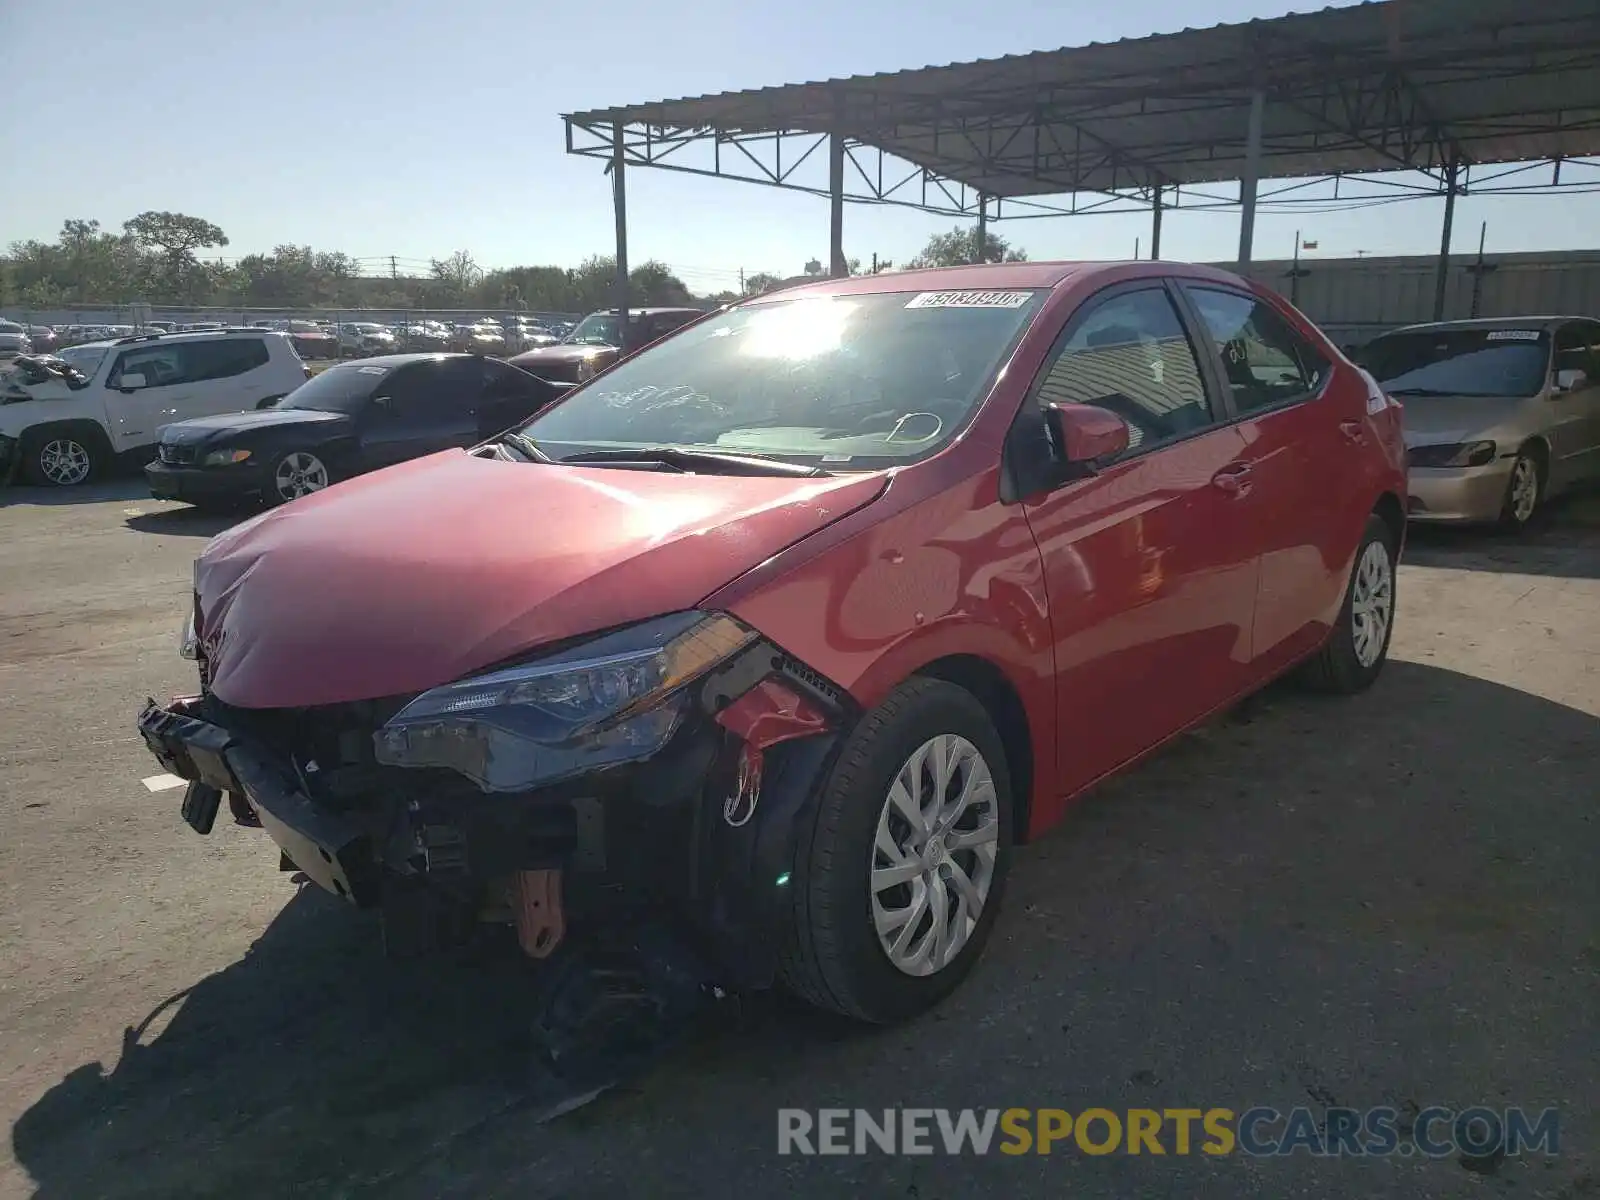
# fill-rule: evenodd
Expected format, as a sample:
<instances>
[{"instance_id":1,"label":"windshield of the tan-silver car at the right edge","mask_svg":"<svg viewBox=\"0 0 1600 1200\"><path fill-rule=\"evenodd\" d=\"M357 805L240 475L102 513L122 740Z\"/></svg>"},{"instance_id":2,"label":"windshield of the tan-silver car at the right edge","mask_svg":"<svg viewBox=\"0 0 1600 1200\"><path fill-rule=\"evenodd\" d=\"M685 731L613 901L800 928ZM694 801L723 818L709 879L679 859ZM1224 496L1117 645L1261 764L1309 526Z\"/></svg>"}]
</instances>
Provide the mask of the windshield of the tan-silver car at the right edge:
<instances>
[{"instance_id":1,"label":"windshield of the tan-silver car at the right edge","mask_svg":"<svg viewBox=\"0 0 1600 1200\"><path fill-rule=\"evenodd\" d=\"M1362 365L1395 395L1538 395L1550 365L1539 330L1419 330L1374 339Z\"/></svg>"}]
</instances>

